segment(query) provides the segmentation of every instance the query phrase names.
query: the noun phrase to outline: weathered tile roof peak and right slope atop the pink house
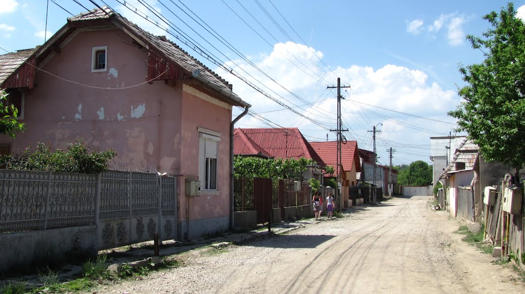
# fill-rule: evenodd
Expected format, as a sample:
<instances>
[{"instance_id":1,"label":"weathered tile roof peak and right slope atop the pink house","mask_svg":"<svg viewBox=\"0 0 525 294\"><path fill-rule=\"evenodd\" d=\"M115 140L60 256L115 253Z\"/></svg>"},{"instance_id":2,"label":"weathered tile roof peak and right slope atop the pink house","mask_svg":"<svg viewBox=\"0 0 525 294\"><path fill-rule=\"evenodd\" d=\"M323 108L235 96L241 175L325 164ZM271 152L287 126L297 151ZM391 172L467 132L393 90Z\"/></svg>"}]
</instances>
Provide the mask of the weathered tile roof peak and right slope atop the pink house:
<instances>
[{"instance_id":1,"label":"weathered tile roof peak and right slope atop the pink house","mask_svg":"<svg viewBox=\"0 0 525 294\"><path fill-rule=\"evenodd\" d=\"M95 8L90 12L81 13L74 17L68 18L68 22L85 22L86 20L96 20L96 19L115 19L129 29L133 34L141 37L153 47L166 55L168 59L171 59L172 62L175 62L181 66L188 74L201 80L206 86L211 86L216 91L219 91L220 94L226 96L227 98L237 101L237 104L246 106L248 105L244 101L241 101L240 98L233 93L232 84L229 84L220 77L218 74L210 70L202 62L193 58L190 54L184 51L181 47L178 47L174 42L167 39L165 36L154 36L151 33L141 29L139 26L133 24L125 17L122 17L117 12L114 12L107 6L102 6L104 10ZM150 49L152 49L150 47ZM211 85L210 85L211 84Z\"/></svg>"}]
</instances>

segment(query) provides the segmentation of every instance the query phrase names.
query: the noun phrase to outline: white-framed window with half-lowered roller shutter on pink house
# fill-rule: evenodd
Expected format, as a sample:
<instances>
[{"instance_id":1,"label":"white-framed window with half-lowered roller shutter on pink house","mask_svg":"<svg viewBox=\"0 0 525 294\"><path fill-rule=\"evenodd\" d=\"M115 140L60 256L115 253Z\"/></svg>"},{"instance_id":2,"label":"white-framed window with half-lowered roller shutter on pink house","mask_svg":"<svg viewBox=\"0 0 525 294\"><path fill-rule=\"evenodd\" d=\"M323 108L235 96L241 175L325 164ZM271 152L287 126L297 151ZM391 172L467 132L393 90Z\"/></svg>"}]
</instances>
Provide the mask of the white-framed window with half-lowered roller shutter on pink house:
<instances>
[{"instance_id":1,"label":"white-framed window with half-lowered roller shutter on pink house","mask_svg":"<svg viewBox=\"0 0 525 294\"><path fill-rule=\"evenodd\" d=\"M202 190L217 190L217 153L220 133L198 128L198 175Z\"/></svg>"}]
</instances>

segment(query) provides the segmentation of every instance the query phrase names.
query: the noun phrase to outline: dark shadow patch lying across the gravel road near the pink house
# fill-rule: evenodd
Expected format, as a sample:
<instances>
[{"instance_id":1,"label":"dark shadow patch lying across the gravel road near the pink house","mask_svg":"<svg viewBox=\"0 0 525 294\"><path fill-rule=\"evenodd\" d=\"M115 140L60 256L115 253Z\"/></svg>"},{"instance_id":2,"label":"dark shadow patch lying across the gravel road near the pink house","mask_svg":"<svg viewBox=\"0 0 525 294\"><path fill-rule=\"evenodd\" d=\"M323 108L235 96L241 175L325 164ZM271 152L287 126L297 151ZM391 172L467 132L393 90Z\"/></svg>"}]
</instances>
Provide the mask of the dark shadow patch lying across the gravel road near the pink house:
<instances>
[{"instance_id":1,"label":"dark shadow patch lying across the gravel road near the pink house","mask_svg":"<svg viewBox=\"0 0 525 294\"><path fill-rule=\"evenodd\" d=\"M251 242L249 245L273 248L315 248L334 237L332 235L276 235L268 239L268 242Z\"/></svg>"}]
</instances>

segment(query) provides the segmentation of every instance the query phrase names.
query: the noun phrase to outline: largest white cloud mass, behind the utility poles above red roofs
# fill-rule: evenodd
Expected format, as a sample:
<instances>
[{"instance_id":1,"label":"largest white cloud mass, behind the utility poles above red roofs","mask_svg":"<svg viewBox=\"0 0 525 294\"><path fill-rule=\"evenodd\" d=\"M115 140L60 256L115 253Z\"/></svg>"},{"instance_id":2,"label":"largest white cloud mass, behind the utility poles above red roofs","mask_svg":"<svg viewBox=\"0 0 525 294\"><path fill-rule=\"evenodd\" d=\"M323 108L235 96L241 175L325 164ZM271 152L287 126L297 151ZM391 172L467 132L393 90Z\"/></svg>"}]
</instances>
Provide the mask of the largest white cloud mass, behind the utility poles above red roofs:
<instances>
[{"instance_id":1,"label":"largest white cloud mass, behind the utility poles above red roofs","mask_svg":"<svg viewBox=\"0 0 525 294\"><path fill-rule=\"evenodd\" d=\"M283 57L283 55L289 55L289 52L293 53L304 64L308 64L322 79L319 79L317 76L316 78L312 78L307 73L297 69L296 65ZM308 52L310 59L301 52ZM418 144L421 144L421 140L428 140L428 137L431 135L440 135L415 131L406 125L400 125L393 121L394 119L416 127L437 130L441 133L448 133L450 130L450 125L440 125L437 122L429 123L425 120L386 110L407 112L423 117L453 122L453 119L446 116L446 112L453 110L450 108L455 108L458 104L459 98L456 92L443 89L438 83L429 81L427 72L409 69L408 67L395 64L386 64L379 69L374 69L369 66L351 65L348 67L337 67L337 69L334 70L324 68L328 74L323 75L321 70L311 64L311 60L316 60L318 61L318 65L322 66L315 55L321 57L322 52L316 51L314 48L308 48L302 44L287 42L276 44L274 50L269 54L261 54L259 57L251 59L262 71L278 81L283 87L286 87L291 92L307 100L310 105L302 106L301 108L297 106L304 105L304 101L300 101L280 86L269 81L268 78L256 70L253 70L247 62L243 60L234 60L234 62L248 71L262 84L271 88L271 90L269 90L264 88L264 86L258 85L264 88L265 92L279 99L282 103L293 107L305 116L323 122L324 125L332 129L335 128L337 103L335 92L328 92L326 86L335 84L335 79L341 77L342 84L349 84L351 86L348 92L343 91L343 96L345 96L346 99L343 100L342 106L345 127L351 128L356 133L355 135L352 134L355 138L350 137L349 134L345 134L349 140L358 139L359 142L370 141L368 140L370 138L366 139L366 136L369 135L366 131L370 130L372 126L378 122L384 124L385 133L383 136L384 138L389 138L389 140L391 138L394 141L400 141L400 138L405 138L407 142L412 142L412 140L416 140L413 138L417 137L417 140L419 140ZM300 65L297 61L293 61ZM233 66L233 64L227 65ZM253 78L239 70L236 66L233 66L233 69L250 81L254 81ZM312 74L310 71L307 72ZM329 133L327 130L320 128L307 119L293 114L293 112L289 110L282 110L282 106L254 91L254 89L238 80L235 76L222 70L217 70L217 73L234 85L234 92L253 106L251 108L252 111L260 114L265 119L282 127L299 127L308 140L319 141L323 140L323 138L326 139L326 134ZM283 98L272 91L275 91ZM311 104L314 105L312 106ZM367 106L366 104L380 106L384 109ZM390 117L392 120L376 116L374 112ZM234 108L234 116L238 113L239 111ZM251 116L245 116L236 126L244 128L250 126L268 127L265 123ZM331 140L333 140L333 134L330 134ZM313 139L311 137L313 137ZM364 149L368 148L366 145L360 145L360 148L361 147Z\"/></svg>"}]
</instances>

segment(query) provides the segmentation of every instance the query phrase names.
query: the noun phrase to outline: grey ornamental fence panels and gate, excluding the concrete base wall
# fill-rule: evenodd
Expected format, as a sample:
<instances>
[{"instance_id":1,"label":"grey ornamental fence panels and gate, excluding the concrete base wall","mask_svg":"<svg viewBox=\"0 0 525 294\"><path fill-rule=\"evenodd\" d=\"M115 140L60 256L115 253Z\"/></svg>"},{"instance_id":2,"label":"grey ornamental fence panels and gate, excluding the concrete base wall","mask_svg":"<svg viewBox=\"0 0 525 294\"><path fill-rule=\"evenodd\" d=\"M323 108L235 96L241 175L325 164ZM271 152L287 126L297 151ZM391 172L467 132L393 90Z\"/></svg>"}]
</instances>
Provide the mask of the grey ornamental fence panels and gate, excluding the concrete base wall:
<instances>
[{"instance_id":1,"label":"grey ornamental fence panels and gate, excluding the concrete base wall","mask_svg":"<svg viewBox=\"0 0 525 294\"><path fill-rule=\"evenodd\" d=\"M97 225L96 248L176 238L176 181L156 173L0 169L0 233ZM0 234L2 236L3 234Z\"/></svg>"}]
</instances>

